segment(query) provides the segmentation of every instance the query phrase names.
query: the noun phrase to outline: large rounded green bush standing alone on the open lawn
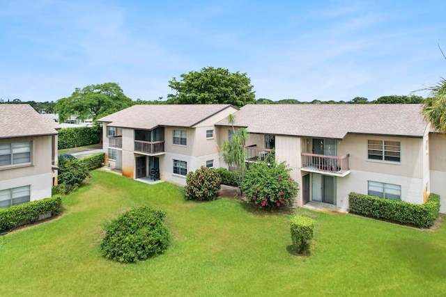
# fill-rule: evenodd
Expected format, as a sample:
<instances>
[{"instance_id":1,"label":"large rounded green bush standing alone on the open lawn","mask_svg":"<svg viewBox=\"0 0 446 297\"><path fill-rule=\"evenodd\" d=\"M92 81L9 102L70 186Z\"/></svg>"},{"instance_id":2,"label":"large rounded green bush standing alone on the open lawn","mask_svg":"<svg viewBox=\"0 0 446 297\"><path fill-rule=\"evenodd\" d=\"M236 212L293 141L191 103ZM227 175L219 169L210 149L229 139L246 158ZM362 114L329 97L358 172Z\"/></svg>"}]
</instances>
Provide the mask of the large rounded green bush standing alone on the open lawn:
<instances>
[{"instance_id":1,"label":"large rounded green bush standing alone on the open lawn","mask_svg":"<svg viewBox=\"0 0 446 297\"><path fill-rule=\"evenodd\" d=\"M130 263L162 253L171 242L165 215L165 211L151 207L121 214L105 226L105 237L100 243L102 255Z\"/></svg>"}]
</instances>

